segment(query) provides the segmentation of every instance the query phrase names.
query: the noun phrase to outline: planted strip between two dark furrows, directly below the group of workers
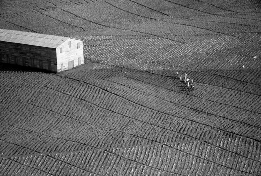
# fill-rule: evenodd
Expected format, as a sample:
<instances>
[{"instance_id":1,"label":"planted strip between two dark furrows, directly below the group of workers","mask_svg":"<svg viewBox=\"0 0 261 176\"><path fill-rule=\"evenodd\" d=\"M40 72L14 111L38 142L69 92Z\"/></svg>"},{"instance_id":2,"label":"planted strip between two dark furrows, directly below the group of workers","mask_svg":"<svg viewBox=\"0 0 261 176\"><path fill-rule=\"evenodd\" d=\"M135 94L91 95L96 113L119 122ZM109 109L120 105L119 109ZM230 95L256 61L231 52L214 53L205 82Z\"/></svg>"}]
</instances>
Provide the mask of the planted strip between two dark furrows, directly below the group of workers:
<instances>
[{"instance_id":1,"label":"planted strip between two dark furrows, directly below the group of workers","mask_svg":"<svg viewBox=\"0 0 261 176\"><path fill-rule=\"evenodd\" d=\"M210 114L211 116L216 116L217 119L220 119L220 118L221 119L222 118L231 119L231 120L235 121L236 123L241 122L247 126L248 126L248 124L250 124L251 126L257 126L257 127L261 128L261 126L259 126L257 124L259 114L255 114L255 113L252 113L249 111L245 111L245 110L242 110L242 109L239 109L236 107L231 107L231 106L224 105L224 104L218 104L216 102L209 101L206 99L200 99L195 96L182 94L179 91L174 92L169 89L155 87L149 83L146 84L144 82L139 82L139 81L132 80L132 79L129 79L126 77L109 78L109 80L117 83L120 86L121 85L127 86L127 89L128 89L128 87L134 89L132 91L136 90L136 92L137 91L143 92L144 97L147 97L146 94L153 96L152 99L157 97L157 98L161 99L161 101L164 100L166 102L169 102L169 105L171 105L171 104L180 105L183 107L191 108L198 112L203 112L203 113L200 113L201 115L203 115L204 113L207 113L207 114ZM177 84L183 86L183 82L177 83ZM121 87L123 87L123 86L121 86ZM150 96L149 96L149 98L151 98ZM147 99L147 98L145 98L145 99ZM229 108L229 111L225 112L227 110L227 108ZM164 108L162 108L162 109L164 109ZM239 118L238 114L244 114L244 117ZM223 120L221 120L221 121L223 121ZM230 122L230 121L228 120L228 122Z\"/></svg>"}]
</instances>

